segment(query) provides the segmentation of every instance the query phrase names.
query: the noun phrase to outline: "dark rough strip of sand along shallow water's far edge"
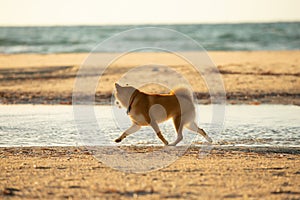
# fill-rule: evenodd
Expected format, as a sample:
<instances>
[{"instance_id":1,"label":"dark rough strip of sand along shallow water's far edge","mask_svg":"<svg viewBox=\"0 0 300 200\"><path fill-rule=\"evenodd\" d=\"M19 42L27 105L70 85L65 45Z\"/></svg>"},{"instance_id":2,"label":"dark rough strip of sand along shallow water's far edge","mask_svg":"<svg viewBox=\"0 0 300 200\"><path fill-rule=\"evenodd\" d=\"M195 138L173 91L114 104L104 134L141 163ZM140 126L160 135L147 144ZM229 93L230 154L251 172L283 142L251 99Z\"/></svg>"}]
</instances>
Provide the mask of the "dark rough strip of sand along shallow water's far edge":
<instances>
[{"instance_id":1,"label":"dark rough strip of sand along shallow water's far edge","mask_svg":"<svg viewBox=\"0 0 300 200\"><path fill-rule=\"evenodd\" d=\"M209 98L201 99L200 97L209 97L207 93L196 93L195 103L208 105L211 104ZM72 105L72 97L68 96L41 96L40 93L19 93L1 92L0 104L2 105ZM95 94L95 105L111 105L112 94ZM300 106L300 94L291 93L268 93L268 94L241 94L233 93L226 95L226 105L295 105Z\"/></svg>"}]
</instances>

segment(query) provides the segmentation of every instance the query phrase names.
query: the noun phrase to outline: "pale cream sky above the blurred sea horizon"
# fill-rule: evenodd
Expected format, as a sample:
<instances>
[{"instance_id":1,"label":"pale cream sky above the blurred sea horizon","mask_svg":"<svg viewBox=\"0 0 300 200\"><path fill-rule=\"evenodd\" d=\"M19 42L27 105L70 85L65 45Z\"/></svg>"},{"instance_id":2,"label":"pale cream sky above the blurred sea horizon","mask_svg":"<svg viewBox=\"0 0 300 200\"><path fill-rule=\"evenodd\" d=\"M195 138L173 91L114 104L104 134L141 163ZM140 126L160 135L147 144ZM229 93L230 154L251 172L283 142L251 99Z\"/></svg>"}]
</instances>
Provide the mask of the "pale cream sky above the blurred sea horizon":
<instances>
[{"instance_id":1,"label":"pale cream sky above the blurred sea horizon","mask_svg":"<svg viewBox=\"0 0 300 200\"><path fill-rule=\"evenodd\" d=\"M300 21L300 0L0 0L0 26Z\"/></svg>"}]
</instances>

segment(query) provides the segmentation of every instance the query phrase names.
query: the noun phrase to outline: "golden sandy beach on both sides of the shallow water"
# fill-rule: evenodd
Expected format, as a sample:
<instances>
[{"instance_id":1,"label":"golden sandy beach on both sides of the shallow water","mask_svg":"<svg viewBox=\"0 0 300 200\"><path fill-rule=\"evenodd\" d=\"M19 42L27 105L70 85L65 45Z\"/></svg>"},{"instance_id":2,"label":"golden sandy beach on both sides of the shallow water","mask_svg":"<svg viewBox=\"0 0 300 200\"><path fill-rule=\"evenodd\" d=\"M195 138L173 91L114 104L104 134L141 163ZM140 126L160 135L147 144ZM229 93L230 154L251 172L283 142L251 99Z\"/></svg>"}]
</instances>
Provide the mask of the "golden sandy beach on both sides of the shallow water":
<instances>
[{"instance_id":1,"label":"golden sandy beach on both sides of the shallow water","mask_svg":"<svg viewBox=\"0 0 300 200\"><path fill-rule=\"evenodd\" d=\"M300 105L300 51L208 55L222 75L228 104ZM0 55L0 104L71 104L76 73L87 56ZM163 53L113 62L97 88L97 103L107 104L114 82L145 63L175 69L190 81L199 103L210 103L205 81L186 70L186 62ZM2 147L0 199L300 199L299 148L214 146L204 157L199 150L190 148L166 168L134 174L104 165L84 147Z\"/></svg>"}]
</instances>

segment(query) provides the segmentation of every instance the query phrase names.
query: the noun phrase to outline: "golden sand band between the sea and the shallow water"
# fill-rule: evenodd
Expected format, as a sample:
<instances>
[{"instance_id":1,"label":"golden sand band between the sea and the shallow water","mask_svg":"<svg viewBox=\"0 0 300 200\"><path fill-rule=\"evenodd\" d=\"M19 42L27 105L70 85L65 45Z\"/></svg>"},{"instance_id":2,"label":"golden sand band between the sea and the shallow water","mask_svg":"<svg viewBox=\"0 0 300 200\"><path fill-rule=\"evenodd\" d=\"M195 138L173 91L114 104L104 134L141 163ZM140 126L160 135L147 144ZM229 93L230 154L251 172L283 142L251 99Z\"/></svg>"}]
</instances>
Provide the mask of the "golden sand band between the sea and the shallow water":
<instances>
[{"instance_id":1,"label":"golden sand band between the sea and the shallow water","mask_svg":"<svg viewBox=\"0 0 300 200\"><path fill-rule=\"evenodd\" d=\"M103 60L110 55L101 54ZM208 55L222 74L228 103L300 105L300 51L208 52ZM0 103L70 104L76 73L87 56L0 55ZM149 63L175 69L190 82L200 103L210 103L204 80L195 76L187 62L166 53L134 53L114 61L101 79L97 102L107 103L113 83L123 73ZM104 63L100 60L97 65ZM168 77L164 72L157 74L158 78Z\"/></svg>"}]
</instances>

